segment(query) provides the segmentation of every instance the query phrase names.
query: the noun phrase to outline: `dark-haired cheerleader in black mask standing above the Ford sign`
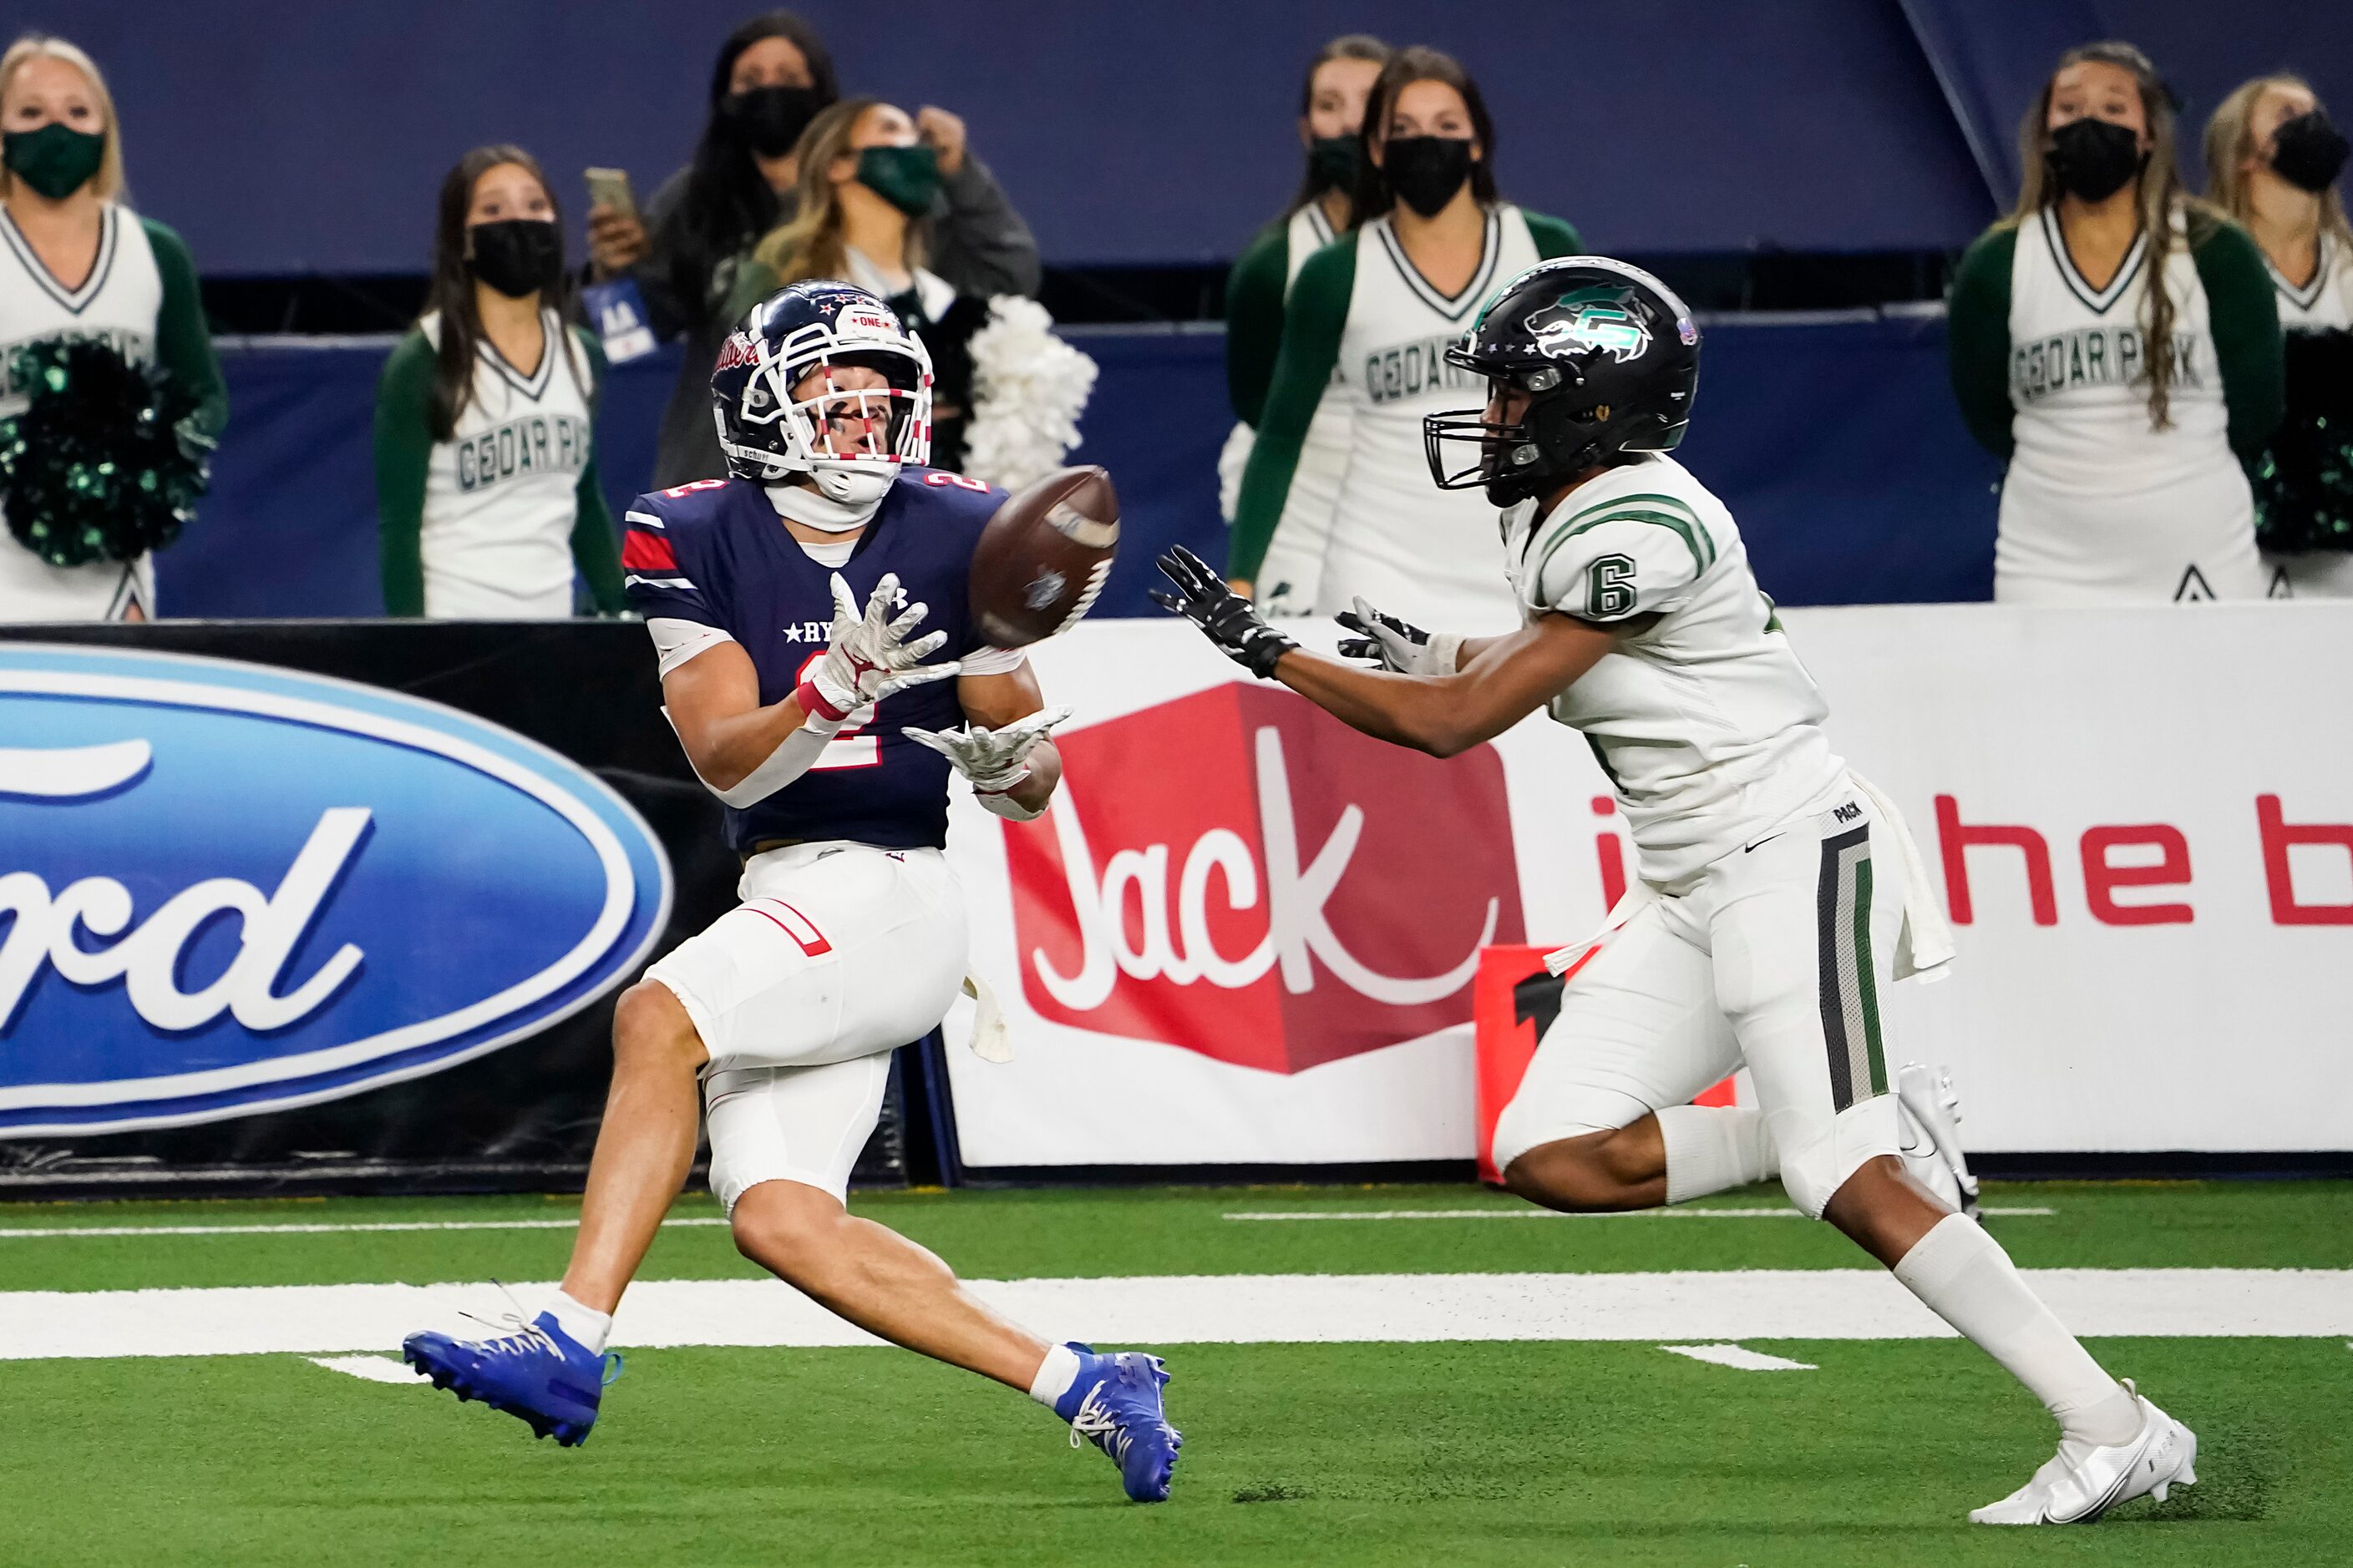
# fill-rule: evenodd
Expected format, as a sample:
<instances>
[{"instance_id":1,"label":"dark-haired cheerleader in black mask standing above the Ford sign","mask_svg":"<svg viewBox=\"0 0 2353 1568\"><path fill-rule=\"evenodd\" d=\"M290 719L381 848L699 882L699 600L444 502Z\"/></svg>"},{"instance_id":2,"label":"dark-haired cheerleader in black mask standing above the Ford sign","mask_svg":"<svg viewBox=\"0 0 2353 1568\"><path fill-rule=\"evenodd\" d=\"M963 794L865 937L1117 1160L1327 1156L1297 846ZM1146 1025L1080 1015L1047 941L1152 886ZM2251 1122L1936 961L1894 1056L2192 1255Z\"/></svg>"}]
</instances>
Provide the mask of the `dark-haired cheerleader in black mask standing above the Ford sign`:
<instances>
[{"instance_id":1,"label":"dark-haired cheerleader in black mask standing above the Ford sign","mask_svg":"<svg viewBox=\"0 0 2353 1568\"><path fill-rule=\"evenodd\" d=\"M426 313L376 388L384 611L569 616L572 578L621 611L595 473L598 341L572 324L562 214L529 153L466 153L440 190Z\"/></svg>"}]
</instances>

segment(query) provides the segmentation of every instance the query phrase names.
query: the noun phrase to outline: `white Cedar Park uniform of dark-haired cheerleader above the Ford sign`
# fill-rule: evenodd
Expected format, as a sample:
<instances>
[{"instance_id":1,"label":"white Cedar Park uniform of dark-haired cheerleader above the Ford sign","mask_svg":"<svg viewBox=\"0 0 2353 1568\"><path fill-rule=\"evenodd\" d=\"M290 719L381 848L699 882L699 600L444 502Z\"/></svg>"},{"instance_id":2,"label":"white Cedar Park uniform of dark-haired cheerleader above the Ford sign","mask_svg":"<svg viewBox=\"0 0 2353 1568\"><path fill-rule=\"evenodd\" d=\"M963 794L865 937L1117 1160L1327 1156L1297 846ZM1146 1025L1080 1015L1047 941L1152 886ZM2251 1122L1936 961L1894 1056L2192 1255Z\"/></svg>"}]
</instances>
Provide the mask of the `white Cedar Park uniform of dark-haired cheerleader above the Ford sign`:
<instances>
[{"instance_id":1,"label":"white Cedar Park uniform of dark-haired cheerleader above the Ford sign","mask_svg":"<svg viewBox=\"0 0 2353 1568\"><path fill-rule=\"evenodd\" d=\"M572 614L572 524L595 449L588 353L553 310L525 376L492 348L475 355L473 397L456 433L433 444L419 550L426 616L551 621ZM440 315L419 327L440 346Z\"/></svg>"}]
</instances>

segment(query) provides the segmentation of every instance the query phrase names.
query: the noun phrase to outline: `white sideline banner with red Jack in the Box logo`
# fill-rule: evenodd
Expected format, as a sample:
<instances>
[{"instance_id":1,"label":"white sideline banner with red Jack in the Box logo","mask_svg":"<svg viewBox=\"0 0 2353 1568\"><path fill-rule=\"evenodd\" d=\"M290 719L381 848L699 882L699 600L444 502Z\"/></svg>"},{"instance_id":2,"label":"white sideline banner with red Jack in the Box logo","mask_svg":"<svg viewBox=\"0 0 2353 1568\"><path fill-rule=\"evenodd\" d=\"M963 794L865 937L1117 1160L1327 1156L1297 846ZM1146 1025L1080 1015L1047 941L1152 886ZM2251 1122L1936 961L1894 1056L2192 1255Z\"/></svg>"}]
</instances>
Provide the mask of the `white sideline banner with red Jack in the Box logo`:
<instances>
[{"instance_id":1,"label":"white sideline banner with red Jack in the Box logo","mask_svg":"<svg viewBox=\"0 0 2353 1568\"><path fill-rule=\"evenodd\" d=\"M1784 621L1953 914L1955 976L1885 1006L1974 1150L2353 1150L2353 712L2282 677L2353 663L2353 604ZM1419 757L1176 623L1033 658L1056 806L953 809L1016 1041L948 1053L965 1164L1468 1159L1480 947L1591 933L1631 870L1586 743Z\"/></svg>"}]
</instances>

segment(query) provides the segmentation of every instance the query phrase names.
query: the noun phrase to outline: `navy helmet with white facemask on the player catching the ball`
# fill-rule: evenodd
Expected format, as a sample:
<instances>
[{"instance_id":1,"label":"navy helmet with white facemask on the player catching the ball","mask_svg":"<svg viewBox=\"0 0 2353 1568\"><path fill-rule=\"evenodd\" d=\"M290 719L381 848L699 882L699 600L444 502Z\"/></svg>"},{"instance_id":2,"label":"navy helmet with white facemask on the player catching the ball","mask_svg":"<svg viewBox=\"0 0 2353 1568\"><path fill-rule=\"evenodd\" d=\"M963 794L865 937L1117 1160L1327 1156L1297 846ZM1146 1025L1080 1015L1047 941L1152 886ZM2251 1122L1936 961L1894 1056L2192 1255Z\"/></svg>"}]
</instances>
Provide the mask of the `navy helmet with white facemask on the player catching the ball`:
<instances>
[{"instance_id":1,"label":"navy helmet with white facemask on the player catching the ball","mask_svg":"<svg viewBox=\"0 0 2353 1568\"><path fill-rule=\"evenodd\" d=\"M882 371L889 386L795 397L809 371L852 364ZM711 404L739 480L809 475L831 501L864 505L901 463L932 456L932 355L896 310L847 282L795 282L746 310L711 367ZM840 440L828 444L828 423L861 440L842 451Z\"/></svg>"}]
</instances>

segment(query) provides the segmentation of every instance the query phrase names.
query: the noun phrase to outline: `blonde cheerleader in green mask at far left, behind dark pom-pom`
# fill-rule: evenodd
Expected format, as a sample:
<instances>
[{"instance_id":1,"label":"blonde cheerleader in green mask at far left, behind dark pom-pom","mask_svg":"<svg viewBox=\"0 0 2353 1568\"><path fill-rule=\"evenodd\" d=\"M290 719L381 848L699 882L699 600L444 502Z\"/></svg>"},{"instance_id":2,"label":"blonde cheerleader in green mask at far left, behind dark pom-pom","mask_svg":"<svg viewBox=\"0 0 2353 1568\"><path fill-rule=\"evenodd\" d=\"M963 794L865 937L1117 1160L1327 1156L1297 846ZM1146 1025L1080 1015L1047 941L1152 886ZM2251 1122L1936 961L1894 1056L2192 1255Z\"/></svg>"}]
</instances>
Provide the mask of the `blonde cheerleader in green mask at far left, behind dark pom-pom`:
<instances>
[{"instance_id":1,"label":"blonde cheerleader in green mask at far left, behind dark pom-pom","mask_svg":"<svg viewBox=\"0 0 2353 1568\"><path fill-rule=\"evenodd\" d=\"M16 381L19 350L96 339L132 364L160 364L198 402L191 437L209 444L221 433L228 393L195 263L179 235L125 207L115 101L96 63L61 38L26 33L0 56L0 418L33 402ZM16 527L0 534L0 621L153 616L144 550L59 567Z\"/></svg>"}]
</instances>

